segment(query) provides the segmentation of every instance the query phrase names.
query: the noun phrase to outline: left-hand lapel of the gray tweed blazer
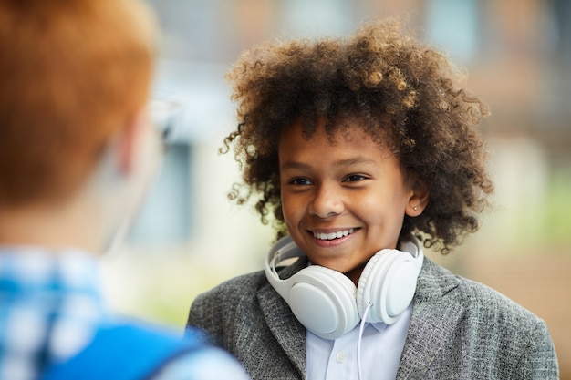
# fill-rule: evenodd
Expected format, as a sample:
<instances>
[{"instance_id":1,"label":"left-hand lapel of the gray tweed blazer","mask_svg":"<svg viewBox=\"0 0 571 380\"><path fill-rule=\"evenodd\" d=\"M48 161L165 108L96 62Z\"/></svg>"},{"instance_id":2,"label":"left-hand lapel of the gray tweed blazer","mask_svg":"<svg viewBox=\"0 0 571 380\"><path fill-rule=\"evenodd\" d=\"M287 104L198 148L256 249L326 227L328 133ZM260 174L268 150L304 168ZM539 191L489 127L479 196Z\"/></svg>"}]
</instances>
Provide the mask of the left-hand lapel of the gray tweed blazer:
<instances>
[{"instance_id":1,"label":"left-hand lapel of the gray tweed blazer","mask_svg":"<svg viewBox=\"0 0 571 380\"><path fill-rule=\"evenodd\" d=\"M307 259L300 258L280 271L280 278L286 279L307 266ZM269 284L258 291L258 301L265 316L265 322L296 366L302 378L306 377L306 328L297 321L285 300Z\"/></svg>"}]
</instances>

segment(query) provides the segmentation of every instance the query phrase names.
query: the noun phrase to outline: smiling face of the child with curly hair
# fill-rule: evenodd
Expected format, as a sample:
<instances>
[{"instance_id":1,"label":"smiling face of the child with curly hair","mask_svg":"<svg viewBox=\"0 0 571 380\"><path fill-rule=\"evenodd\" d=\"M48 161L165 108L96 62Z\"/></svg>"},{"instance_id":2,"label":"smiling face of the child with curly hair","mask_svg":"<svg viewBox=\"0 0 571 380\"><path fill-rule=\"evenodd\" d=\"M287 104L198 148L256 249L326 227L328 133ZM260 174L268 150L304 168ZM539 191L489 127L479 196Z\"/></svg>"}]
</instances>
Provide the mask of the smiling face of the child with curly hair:
<instances>
[{"instance_id":1,"label":"smiling face of the child with curly hair","mask_svg":"<svg viewBox=\"0 0 571 380\"><path fill-rule=\"evenodd\" d=\"M328 137L324 122L310 139L301 122L280 139L285 224L310 262L357 283L370 257L396 247L405 213L417 216L422 207L394 154L357 123Z\"/></svg>"}]
</instances>

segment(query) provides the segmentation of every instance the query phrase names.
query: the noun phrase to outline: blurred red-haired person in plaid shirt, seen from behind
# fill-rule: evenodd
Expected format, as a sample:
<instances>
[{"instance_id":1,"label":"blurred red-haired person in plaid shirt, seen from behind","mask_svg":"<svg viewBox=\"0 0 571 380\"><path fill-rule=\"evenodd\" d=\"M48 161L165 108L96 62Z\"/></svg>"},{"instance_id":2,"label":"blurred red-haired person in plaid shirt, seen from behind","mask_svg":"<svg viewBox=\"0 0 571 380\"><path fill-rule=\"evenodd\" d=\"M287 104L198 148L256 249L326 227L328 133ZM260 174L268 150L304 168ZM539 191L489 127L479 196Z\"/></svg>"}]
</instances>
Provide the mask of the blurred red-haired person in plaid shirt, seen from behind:
<instances>
[{"instance_id":1,"label":"blurred red-haired person in plaid shirt, seen from behind","mask_svg":"<svg viewBox=\"0 0 571 380\"><path fill-rule=\"evenodd\" d=\"M136 0L0 0L0 379L245 379L196 331L112 316L98 255L161 161Z\"/></svg>"}]
</instances>

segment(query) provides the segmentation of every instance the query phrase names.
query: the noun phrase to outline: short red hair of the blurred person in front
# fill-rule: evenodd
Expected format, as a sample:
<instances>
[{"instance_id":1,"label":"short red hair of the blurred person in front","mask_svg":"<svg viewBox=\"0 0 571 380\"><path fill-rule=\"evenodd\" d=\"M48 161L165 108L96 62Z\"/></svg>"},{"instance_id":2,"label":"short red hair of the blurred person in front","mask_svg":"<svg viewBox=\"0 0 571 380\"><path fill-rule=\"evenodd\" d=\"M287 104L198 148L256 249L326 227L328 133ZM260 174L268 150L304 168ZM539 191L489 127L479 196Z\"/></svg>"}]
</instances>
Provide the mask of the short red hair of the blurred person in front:
<instances>
[{"instance_id":1,"label":"short red hair of the blurred person in front","mask_svg":"<svg viewBox=\"0 0 571 380\"><path fill-rule=\"evenodd\" d=\"M145 105L150 15L134 0L0 0L0 204L75 190Z\"/></svg>"}]
</instances>

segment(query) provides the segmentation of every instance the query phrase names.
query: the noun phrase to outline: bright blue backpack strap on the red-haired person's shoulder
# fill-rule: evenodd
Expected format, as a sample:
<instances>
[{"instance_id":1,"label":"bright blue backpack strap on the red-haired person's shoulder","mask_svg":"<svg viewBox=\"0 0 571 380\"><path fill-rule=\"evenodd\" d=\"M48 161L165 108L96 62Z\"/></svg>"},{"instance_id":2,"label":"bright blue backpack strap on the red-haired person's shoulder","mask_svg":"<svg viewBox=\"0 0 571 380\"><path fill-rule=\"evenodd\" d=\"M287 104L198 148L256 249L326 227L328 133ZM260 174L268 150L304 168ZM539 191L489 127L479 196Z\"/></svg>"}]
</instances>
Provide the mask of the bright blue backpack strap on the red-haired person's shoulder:
<instances>
[{"instance_id":1,"label":"bright blue backpack strap on the red-haired person's shoulder","mask_svg":"<svg viewBox=\"0 0 571 380\"><path fill-rule=\"evenodd\" d=\"M136 324L100 328L93 341L69 360L51 365L41 380L142 380L181 354L206 346L196 330L182 336Z\"/></svg>"}]
</instances>

